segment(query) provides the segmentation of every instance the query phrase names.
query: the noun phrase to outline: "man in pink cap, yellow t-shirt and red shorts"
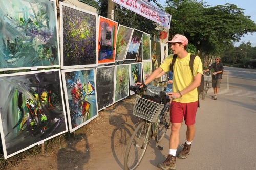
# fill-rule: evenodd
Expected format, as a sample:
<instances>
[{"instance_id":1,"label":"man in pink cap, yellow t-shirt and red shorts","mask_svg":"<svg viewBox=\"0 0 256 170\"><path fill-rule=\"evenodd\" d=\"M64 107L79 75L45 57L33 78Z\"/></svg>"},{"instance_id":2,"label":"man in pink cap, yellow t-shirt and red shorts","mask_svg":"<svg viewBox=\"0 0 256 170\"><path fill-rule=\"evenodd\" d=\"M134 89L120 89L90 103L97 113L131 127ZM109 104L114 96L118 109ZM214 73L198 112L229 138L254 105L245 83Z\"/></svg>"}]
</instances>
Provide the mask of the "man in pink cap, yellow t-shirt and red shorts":
<instances>
[{"instance_id":1,"label":"man in pink cap, yellow t-shirt and red shorts","mask_svg":"<svg viewBox=\"0 0 256 170\"><path fill-rule=\"evenodd\" d=\"M190 54L186 51L188 40L183 35L175 35L171 41L170 48L173 54L169 55L163 64L157 68L144 84L150 83L162 71L170 71L173 55L177 54L177 59L173 66L173 92L167 93L173 101L171 102L170 112L172 116L170 148L167 159L163 163L159 163L161 169L176 169L176 151L179 146L179 132L181 123L184 118L187 125L186 139L183 150L178 154L179 158L186 158L190 154L191 142L195 136L196 112L198 108L198 92L197 87L200 85L202 77L202 62L196 56L193 65L193 76L189 67Z\"/></svg>"}]
</instances>

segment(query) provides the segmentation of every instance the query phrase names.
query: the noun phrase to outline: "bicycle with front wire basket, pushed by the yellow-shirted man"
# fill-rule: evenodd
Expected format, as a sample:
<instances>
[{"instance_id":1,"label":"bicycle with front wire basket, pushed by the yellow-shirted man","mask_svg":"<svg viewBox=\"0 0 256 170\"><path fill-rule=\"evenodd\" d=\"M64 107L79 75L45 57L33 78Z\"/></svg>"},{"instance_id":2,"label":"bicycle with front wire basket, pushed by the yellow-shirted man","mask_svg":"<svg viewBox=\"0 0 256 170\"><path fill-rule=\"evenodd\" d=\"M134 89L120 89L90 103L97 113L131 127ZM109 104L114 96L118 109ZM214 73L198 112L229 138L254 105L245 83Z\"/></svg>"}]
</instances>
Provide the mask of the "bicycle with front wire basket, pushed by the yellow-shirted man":
<instances>
[{"instance_id":1,"label":"bicycle with front wire basket, pushed by the yellow-shirted man","mask_svg":"<svg viewBox=\"0 0 256 170\"><path fill-rule=\"evenodd\" d=\"M136 93L146 91L147 95L136 95L133 115L142 118L142 122L139 122L127 144L124 156L125 170L138 167L153 136L156 148L163 150L158 143L170 127L170 105L167 103L170 99L166 98L163 87L147 86L141 89L130 86L129 89Z\"/></svg>"}]
</instances>

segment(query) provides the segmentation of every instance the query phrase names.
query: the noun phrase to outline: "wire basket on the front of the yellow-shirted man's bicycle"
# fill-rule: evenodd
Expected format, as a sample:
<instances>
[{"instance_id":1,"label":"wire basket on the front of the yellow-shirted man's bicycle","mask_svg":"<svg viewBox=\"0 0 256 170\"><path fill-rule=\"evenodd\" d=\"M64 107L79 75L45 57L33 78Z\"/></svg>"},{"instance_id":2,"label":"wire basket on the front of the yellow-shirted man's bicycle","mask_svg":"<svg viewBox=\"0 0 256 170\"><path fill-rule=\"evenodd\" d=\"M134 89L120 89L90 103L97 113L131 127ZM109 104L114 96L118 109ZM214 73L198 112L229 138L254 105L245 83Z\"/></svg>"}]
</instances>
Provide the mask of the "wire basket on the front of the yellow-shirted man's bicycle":
<instances>
[{"instance_id":1,"label":"wire basket on the front of the yellow-shirted man's bicycle","mask_svg":"<svg viewBox=\"0 0 256 170\"><path fill-rule=\"evenodd\" d=\"M150 122L156 122L157 117L161 113L163 107L163 104L147 100L137 95L133 109L133 115L136 115Z\"/></svg>"}]
</instances>

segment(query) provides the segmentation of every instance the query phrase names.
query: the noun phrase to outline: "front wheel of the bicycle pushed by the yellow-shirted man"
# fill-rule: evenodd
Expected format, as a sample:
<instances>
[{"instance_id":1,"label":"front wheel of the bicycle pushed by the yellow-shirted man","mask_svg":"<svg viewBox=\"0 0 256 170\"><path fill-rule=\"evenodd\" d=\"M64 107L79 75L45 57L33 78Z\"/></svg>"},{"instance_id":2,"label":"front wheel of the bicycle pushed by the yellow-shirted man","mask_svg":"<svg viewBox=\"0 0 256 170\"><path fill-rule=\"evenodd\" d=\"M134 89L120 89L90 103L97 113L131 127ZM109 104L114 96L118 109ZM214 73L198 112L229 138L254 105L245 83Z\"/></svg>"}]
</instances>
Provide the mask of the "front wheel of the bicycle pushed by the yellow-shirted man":
<instances>
[{"instance_id":1,"label":"front wheel of the bicycle pushed by the yellow-shirted man","mask_svg":"<svg viewBox=\"0 0 256 170\"><path fill-rule=\"evenodd\" d=\"M151 139L150 135L152 135L151 124L143 121L136 127L126 147L124 156L125 170L137 168L146 152L147 145Z\"/></svg>"}]
</instances>

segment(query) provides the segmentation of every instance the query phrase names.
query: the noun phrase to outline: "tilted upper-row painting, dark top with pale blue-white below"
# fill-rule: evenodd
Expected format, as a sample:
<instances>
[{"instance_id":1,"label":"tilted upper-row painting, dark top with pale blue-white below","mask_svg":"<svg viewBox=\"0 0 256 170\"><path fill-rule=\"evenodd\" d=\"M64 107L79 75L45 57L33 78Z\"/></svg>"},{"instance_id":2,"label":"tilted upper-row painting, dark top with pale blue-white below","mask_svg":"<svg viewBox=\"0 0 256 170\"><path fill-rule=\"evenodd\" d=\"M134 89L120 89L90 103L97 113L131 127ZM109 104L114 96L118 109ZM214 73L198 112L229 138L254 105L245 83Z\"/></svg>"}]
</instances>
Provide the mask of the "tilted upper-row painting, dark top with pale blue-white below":
<instances>
[{"instance_id":1,"label":"tilted upper-row painting, dark top with pale blue-white below","mask_svg":"<svg viewBox=\"0 0 256 170\"><path fill-rule=\"evenodd\" d=\"M136 59L137 53L138 53L139 47L140 47L142 34L143 34L143 32L134 29L129 46L128 46L125 60L135 60Z\"/></svg>"}]
</instances>

